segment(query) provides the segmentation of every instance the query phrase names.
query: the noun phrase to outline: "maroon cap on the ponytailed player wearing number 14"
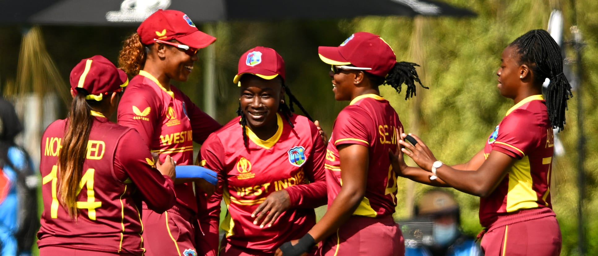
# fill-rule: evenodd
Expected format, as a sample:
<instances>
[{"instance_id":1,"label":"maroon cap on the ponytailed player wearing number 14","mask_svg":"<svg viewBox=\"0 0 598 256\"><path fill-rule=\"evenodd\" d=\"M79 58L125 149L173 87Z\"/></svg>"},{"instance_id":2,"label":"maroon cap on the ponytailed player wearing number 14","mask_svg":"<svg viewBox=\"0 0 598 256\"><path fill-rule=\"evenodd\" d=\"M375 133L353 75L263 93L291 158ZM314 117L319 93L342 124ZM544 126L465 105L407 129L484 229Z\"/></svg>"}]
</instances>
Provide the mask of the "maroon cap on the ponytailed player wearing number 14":
<instances>
[{"instance_id":1,"label":"maroon cap on the ponytailed player wearing number 14","mask_svg":"<svg viewBox=\"0 0 598 256\"><path fill-rule=\"evenodd\" d=\"M129 84L127 74L102 55L84 58L71 70L71 89L85 89L88 100L102 100L102 94L117 91Z\"/></svg>"}]
</instances>

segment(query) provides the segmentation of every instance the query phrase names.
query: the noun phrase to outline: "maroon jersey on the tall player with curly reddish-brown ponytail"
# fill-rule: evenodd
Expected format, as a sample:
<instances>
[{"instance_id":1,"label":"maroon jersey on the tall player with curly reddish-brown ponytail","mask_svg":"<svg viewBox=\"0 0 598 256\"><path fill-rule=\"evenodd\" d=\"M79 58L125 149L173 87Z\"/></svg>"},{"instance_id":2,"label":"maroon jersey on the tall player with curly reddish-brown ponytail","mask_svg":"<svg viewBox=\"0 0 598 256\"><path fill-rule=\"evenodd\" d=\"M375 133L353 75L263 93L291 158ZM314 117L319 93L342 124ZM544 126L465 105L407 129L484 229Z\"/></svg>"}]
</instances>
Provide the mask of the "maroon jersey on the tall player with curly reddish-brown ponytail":
<instances>
[{"instance_id":1,"label":"maroon jersey on the tall player with curly reddish-brown ponytail","mask_svg":"<svg viewBox=\"0 0 598 256\"><path fill-rule=\"evenodd\" d=\"M152 152L164 162L193 165L193 141L202 144L221 127L173 85L166 90L144 70L131 79L118 104L118 124L135 128ZM176 200L197 212L193 183L176 184Z\"/></svg>"}]
</instances>

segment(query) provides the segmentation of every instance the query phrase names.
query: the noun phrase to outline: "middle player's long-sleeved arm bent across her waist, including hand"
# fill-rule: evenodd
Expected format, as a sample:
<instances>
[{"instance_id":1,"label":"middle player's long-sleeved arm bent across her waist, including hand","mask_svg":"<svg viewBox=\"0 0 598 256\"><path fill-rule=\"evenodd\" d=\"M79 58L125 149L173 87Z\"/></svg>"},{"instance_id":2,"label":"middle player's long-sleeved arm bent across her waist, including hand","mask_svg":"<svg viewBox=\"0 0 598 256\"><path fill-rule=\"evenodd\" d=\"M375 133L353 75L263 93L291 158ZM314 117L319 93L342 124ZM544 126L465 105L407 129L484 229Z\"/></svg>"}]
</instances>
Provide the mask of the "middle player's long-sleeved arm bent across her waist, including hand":
<instances>
[{"instance_id":1,"label":"middle player's long-sleeved arm bent across her waist, including hand","mask_svg":"<svg viewBox=\"0 0 598 256\"><path fill-rule=\"evenodd\" d=\"M309 184L290 186L267 196L266 200L255 209L252 217L254 224L272 226L280 214L290 208L316 208L325 205L326 174L324 172L324 159L326 147L318 127L310 122L313 152L310 159L303 165L303 171Z\"/></svg>"}]
</instances>

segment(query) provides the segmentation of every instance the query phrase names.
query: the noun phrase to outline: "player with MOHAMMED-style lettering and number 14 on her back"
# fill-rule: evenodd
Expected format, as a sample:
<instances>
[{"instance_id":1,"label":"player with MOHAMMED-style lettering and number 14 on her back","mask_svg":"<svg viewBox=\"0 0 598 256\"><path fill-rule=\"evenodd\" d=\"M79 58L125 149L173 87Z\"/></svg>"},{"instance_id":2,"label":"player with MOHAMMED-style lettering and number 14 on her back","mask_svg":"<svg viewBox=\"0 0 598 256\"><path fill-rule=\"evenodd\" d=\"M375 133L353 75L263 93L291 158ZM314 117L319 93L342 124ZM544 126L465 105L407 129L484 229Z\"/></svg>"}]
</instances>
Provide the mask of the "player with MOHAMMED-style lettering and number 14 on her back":
<instances>
[{"instance_id":1,"label":"player with MOHAMMED-style lettering and number 14 on her back","mask_svg":"<svg viewBox=\"0 0 598 256\"><path fill-rule=\"evenodd\" d=\"M172 158L155 169L139 133L108 120L127 82L100 55L71 71L69 116L41 141L40 255L143 255L141 202L155 212L175 203Z\"/></svg>"}]
</instances>

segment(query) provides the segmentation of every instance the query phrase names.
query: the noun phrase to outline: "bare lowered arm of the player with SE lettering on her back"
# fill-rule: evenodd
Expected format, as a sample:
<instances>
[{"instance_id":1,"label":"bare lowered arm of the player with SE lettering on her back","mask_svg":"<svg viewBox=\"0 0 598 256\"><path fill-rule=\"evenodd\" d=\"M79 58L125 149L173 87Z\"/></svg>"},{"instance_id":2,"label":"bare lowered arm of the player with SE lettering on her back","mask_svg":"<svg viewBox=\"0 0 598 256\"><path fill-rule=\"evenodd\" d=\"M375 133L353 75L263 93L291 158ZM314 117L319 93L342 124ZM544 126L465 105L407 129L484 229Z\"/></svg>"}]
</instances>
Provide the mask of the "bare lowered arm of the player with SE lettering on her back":
<instances>
[{"instance_id":1,"label":"bare lowered arm of the player with SE lettering on her back","mask_svg":"<svg viewBox=\"0 0 598 256\"><path fill-rule=\"evenodd\" d=\"M343 144L338 146L340 158L341 179L343 186L324 217L310 230L309 235L318 243L334 234L345 221L347 221L359 202L364 198L367 185L368 165L370 153L368 148L359 144ZM291 241L293 245L297 240ZM280 249L276 256L282 256Z\"/></svg>"}]
</instances>

